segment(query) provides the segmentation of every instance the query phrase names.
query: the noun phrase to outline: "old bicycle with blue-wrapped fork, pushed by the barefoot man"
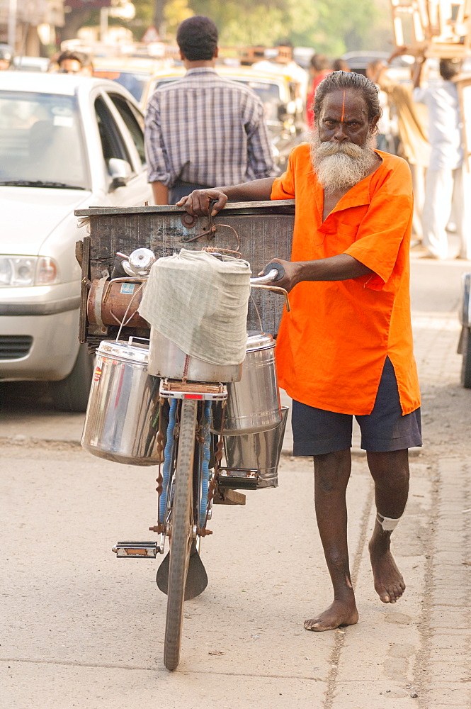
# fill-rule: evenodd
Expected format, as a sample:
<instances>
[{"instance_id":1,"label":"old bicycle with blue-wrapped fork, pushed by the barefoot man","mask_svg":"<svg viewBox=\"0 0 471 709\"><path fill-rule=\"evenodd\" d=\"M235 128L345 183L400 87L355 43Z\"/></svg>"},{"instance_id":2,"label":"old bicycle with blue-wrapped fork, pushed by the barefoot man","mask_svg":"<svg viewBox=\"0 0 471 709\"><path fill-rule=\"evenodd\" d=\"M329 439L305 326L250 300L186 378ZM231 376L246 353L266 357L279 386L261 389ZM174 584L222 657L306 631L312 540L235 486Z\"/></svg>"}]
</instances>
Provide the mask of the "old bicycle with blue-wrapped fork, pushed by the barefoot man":
<instances>
[{"instance_id":1,"label":"old bicycle with blue-wrapped fork, pushed by the barefoot man","mask_svg":"<svg viewBox=\"0 0 471 709\"><path fill-rule=\"evenodd\" d=\"M124 257L124 255L118 256ZM152 252L139 249L123 262L123 269L131 281L135 281L137 276L144 281L154 260ZM283 293L286 306L289 309L288 294L273 285L281 277L283 277L283 267L280 264L272 263L268 264L262 277L251 278L250 284L254 288L266 288ZM113 281L121 283L123 280L125 279L115 278L108 281L103 296L105 302ZM140 290L142 290L142 284L136 289L135 295ZM132 314L128 316L128 312L133 297L130 298L130 303L124 313L123 323L129 322L132 318ZM272 348L271 357L273 360L271 361L273 375L270 370L270 380L267 380L266 388L276 391L274 396L278 401L278 410L274 406L273 420L264 419L260 432L268 431L271 434L271 431L276 431L278 451L274 452L274 459L276 459L276 466L278 466L285 416L281 417L280 415L273 358L274 341L271 335L263 336L268 342L268 345L265 342L264 349ZM119 333L116 344L119 344L118 338ZM268 341L268 338L271 342ZM166 340L166 342L169 341ZM181 354L188 360L188 355L183 352ZM199 556L199 548L201 538L212 534L207 526L208 520L212 518L212 506L215 503L243 504L244 495L238 493L237 490L256 489L260 484L261 477L259 468L255 467L253 461L249 467L241 467L240 462L232 468L222 467L225 434L231 435L230 431L225 431L228 384L218 380L208 381L208 377L205 378L206 381L191 379L191 376L186 376L187 370L188 362L186 362L183 376L179 378L162 376L159 386L159 403L155 411L152 411L152 405L156 404L154 391L157 380L153 379L152 384L149 385L151 392L147 401L146 415L150 415L153 419L152 430L154 430L157 442L157 460L159 462L157 525L149 527L149 530L159 534L159 541L120 542L113 547L118 558L156 558L157 554L164 554L166 539L169 539L169 553L164 557L157 571L157 586L167 594L164 664L171 671L178 666L181 654L184 602L198 596L208 584L208 576ZM99 376L101 376L101 369L98 379ZM96 378L94 379L97 381ZM225 381L237 381L237 376L233 380L227 378ZM229 384L230 386L234 385ZM120 377L119 387L120 391L123 391L122 377ZM93 386L91 400L92 396ZM215 429L216 408L220 420L217 430ZM87 410L86 425L88 417L89 411ZM156 433L157 420L158 430ZM239 440L242 440L242 437ZM84 439L82 439L82 445L84 445ZM93 452L90 447L87 450ZM149 440L147 440L145 450L146 456L152 454ZM227 451L226 457L228 457ZM119 460L117 457L111 459ZM149 458L142 464L153 464L153 460ZM266 486L273 486L273 484L268 481Z\"/></svg>"}]
</instances>

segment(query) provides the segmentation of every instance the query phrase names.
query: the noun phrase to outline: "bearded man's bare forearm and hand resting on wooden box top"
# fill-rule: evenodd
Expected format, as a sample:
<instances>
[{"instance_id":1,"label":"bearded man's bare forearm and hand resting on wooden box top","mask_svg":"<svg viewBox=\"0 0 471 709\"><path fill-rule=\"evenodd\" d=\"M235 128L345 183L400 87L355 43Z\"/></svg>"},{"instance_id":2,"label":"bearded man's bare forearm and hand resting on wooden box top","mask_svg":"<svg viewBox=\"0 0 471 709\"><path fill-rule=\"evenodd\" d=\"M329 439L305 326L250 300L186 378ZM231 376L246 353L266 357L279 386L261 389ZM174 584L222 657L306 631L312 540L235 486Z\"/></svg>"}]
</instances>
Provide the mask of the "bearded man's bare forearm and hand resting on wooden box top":
<instances>
[{"instance_id":1,"label":"bearded man's bare forearm and hand resting on wooden box top","mask_svg":"<svg viewBox=\"0 0 471 709\"><path fill-rule=\"evenodd\" d=\"M270 199L271 186L274 181L274 177L264 177L229 187L195 189L187 197L182 197L177 202L177 206L184 206L192 216L203 216L209 213L210 203L215 201L212 208L212 216L215 216L228 200L231 202L252 202Z\"/></svg>"}]
</instances>

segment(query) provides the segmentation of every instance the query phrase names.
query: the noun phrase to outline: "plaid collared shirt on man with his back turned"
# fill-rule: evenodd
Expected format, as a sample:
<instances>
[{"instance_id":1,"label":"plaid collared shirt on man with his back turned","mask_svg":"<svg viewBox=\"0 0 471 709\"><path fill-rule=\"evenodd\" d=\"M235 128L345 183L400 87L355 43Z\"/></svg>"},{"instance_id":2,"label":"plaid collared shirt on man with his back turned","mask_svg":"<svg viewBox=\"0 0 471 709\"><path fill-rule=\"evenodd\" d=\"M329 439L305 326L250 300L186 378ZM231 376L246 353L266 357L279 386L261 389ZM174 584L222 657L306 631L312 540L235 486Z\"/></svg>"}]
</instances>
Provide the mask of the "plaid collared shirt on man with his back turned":
<instances>
[{"instance_id":1,"label":"plaid collared shirt on man with his back turned","mask_svg":"<svg viewBox=\"0 0 471 709\"><path fill-rule=\"evenodd\" d=\"M177 179L223 186L278 174L261 100L209 67L157 87L145 145L149 182L169 187Z\"/></svg>"}]
</instances>

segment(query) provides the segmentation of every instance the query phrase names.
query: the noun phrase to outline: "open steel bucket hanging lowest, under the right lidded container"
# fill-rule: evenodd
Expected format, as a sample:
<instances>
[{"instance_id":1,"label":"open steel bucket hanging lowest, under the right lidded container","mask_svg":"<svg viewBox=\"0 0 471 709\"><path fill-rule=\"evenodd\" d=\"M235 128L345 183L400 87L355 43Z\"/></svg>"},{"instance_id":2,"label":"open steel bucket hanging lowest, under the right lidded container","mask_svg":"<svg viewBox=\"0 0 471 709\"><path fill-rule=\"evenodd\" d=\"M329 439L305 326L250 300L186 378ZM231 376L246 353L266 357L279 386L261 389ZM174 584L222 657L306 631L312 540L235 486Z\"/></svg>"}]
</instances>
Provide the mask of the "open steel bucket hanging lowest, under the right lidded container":
<instances>
[{"instance_id":1,"label":"open steel bucket hanging lowest, under the right lidded container","mask_svg":"<svg viewBox=\"0 0 471 709\"><path fill-rule=\"evenodd\" d=\"M237 468L258 470L257 489L278 487L278 464L288 411L288 406L283 406L281 421L276 428L244 436L224 437L226 462L227 467L231 469L231 476L237 477ZM245 475L245 472L241 473L242 477Z\"/></svg>"}]
</instances>

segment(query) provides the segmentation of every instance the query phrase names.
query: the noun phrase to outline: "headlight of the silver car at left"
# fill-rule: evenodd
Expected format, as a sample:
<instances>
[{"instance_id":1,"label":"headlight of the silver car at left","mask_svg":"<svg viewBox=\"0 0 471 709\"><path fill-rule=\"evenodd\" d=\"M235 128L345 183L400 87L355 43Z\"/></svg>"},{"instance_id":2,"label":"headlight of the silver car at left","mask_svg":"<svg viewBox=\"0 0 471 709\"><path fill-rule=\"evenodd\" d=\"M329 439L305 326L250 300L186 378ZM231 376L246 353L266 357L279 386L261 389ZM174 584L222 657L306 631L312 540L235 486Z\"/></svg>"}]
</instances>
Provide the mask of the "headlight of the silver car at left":
<instances>
[{"instance_id":1,"label":"headlight of the silver car at left","mask_svg":"<svg viewBox=\"0 0 471 709\"><path fill-rule=\"evenodd\" d=\"M48 286L58 282L57 263L49 256L0 256L0 287Z\"/></svg>"}]
</instances>

